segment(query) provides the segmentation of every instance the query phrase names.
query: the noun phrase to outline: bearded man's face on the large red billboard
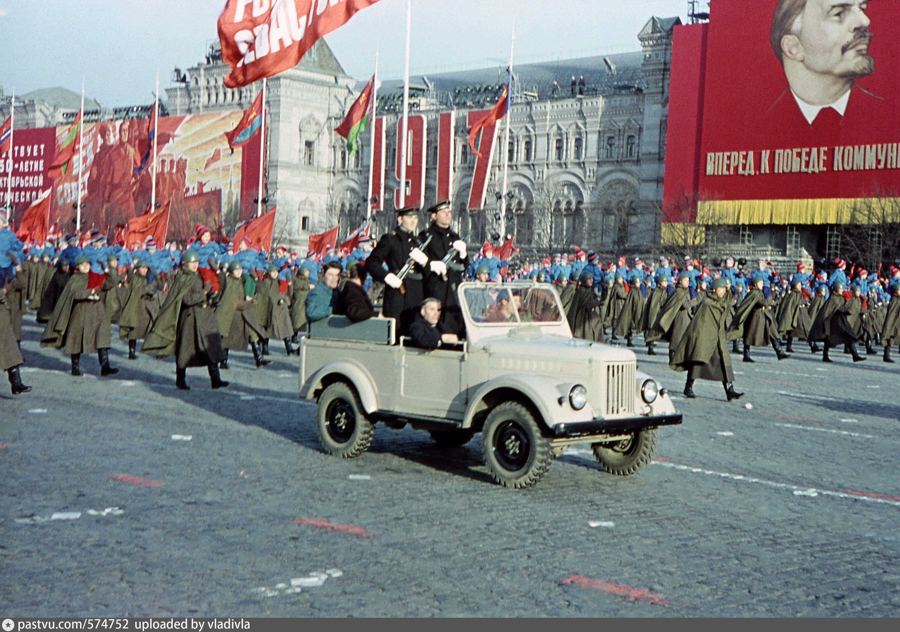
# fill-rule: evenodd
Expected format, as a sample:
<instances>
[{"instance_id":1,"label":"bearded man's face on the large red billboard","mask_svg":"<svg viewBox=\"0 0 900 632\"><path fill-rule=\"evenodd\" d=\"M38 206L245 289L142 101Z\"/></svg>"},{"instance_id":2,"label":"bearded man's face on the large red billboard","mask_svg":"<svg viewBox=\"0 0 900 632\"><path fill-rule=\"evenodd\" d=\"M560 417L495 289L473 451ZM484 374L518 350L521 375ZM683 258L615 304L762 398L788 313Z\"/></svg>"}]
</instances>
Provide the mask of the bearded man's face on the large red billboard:
<instances>
[{"instance_id":1,"label":"bearded man's face on the large red billboard","mask_svg":"<svg viewBox=\"0 0 900 632\"><path fill-rule=\"evenodd\" d=\"M854 79L875 72L868 5L868 0L780 0L772 48L788 84L807 103L829 104L827 99L840 97Z\"/></svg>"}]
</instances>

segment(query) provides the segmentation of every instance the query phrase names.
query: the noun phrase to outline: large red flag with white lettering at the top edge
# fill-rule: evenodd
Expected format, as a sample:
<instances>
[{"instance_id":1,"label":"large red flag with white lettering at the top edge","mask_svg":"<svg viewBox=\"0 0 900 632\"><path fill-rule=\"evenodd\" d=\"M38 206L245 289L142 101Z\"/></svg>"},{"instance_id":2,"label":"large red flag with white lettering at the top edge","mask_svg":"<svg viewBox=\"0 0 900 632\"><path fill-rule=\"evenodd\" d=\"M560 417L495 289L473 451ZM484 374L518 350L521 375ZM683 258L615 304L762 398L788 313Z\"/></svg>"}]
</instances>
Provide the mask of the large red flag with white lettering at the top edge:
<instances>
[{"instance_id":1,"label":"large red flag with white lettering at the top edge","mask_svg":"<svg viewBox=\"0 0 900 632\"><path fill-rule=\"evenodd\" d=\"M219 16L225 86L243 87L300 63L323 36L378 0L228 0Z\"/></svg>"}]
</instances>

